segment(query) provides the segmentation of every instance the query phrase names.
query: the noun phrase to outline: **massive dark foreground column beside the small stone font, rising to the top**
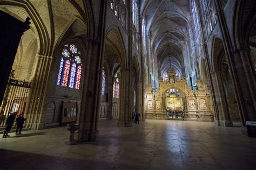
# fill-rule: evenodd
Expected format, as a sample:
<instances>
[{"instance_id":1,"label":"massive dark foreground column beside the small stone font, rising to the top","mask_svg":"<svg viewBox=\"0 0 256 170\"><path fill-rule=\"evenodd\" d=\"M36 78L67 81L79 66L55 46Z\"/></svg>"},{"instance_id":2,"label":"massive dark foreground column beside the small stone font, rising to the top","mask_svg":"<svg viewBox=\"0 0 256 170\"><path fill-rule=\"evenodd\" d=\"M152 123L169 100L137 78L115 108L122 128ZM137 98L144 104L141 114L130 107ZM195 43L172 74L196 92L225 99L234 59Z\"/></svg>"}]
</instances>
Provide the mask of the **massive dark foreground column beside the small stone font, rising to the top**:
<instances>
[{"instance_id":1,"label":"massive dark foreground column beside the small stone font, rising to the top","mask_svg":"<svg viewBox=\"0 0 256 170\"><path fill-rule=\"evenodd\" d=\"M95 142L99 136L98 119L100 91L102 91L106 7L107 1L100 1L99 23L96 24L98 31L95 33L95 39L87 38L87 63L83 75L78 142Z\"/></svg>"}]
</instances>

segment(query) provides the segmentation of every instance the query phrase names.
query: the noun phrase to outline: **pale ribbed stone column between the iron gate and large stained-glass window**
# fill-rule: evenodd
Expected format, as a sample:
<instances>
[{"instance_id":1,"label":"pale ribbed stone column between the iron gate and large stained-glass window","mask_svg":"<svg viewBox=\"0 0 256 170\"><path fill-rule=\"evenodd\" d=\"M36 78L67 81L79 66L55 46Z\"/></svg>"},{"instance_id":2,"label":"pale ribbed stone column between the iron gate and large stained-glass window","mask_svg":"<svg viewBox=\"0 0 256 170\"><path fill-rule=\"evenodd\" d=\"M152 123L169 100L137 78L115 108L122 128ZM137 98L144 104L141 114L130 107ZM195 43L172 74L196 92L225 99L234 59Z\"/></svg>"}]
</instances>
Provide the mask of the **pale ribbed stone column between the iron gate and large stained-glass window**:
<instances>
[{"instance_id":1,"label":"pale ribbed stone column between the iron gate and large stained-glass window","mask_svg":"<svg viewBox=\"0 0 256 170\"><path fill-rule=\"evenodd\" d=\"M37 54L35 70L31 89L29 91L28 103L26 104L25 115L27 127L32 129L44 128L43 112L47 99L49 76L52 67L52 56Z\"/></svg>"}]
</instances>

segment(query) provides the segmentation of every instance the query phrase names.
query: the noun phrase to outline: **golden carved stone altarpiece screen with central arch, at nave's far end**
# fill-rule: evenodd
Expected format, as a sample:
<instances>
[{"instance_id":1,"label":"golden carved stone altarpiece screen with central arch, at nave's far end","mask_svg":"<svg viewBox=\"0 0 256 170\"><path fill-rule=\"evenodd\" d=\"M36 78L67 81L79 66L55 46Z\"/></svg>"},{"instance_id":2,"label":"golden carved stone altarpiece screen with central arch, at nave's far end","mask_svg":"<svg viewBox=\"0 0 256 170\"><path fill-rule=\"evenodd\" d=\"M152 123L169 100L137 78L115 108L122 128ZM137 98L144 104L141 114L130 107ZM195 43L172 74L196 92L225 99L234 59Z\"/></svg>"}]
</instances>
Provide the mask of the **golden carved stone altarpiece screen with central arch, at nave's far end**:
<instances>
[{"instance_id":1,"label":"golden carved stone altarpiece screen with central arch, at nave's far end","mask_svg":"<svg viewBox=\"0 0 256 170\"><path fill-rule=\"evenodd\" d=\"M210 96L202 83L197 82L198 90L192 90L186 84L185 77L178 78L174 72L168 73L168 79L159 82L159 89L152 93L149 86L145 96L145 114L147 119L167 119L166 110L183 111L185 121L213 122Z\"/></svg>"}]
</instances>

